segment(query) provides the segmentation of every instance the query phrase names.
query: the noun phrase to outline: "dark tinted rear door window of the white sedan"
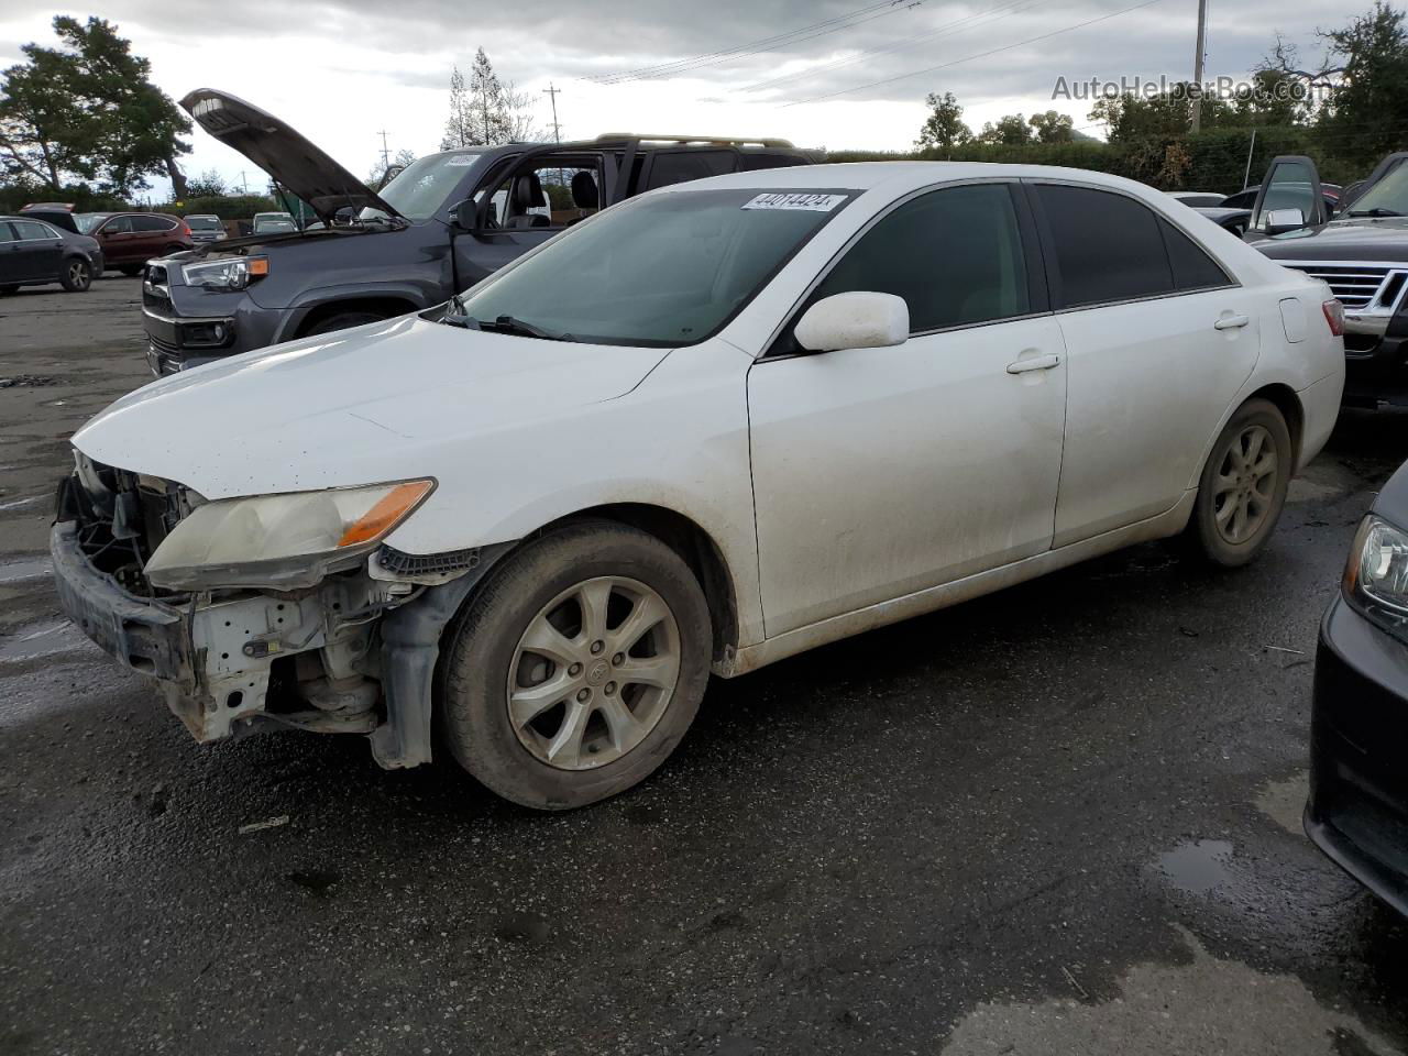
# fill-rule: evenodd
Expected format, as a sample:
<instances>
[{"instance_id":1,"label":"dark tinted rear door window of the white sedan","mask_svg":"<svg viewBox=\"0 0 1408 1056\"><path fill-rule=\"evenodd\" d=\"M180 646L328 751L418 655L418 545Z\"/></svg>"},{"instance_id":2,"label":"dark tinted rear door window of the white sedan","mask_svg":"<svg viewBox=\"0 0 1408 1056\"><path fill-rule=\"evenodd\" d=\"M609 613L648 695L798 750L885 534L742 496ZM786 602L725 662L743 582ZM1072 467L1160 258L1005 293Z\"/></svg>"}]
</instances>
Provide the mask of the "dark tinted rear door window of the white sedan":
<instances>
[{"instance_id":1,"label":"dark tinted rear door window of the white sedan","mask_svg":"<svg viewBox=\"0 0 1408 1056\"><path fill-rule=\"evenodd\" d=\"M1159 217L1133 199L1094 187L1032 186L1050 237L1057 308L1173 293Z\"/></svg>"}]
</instances>

